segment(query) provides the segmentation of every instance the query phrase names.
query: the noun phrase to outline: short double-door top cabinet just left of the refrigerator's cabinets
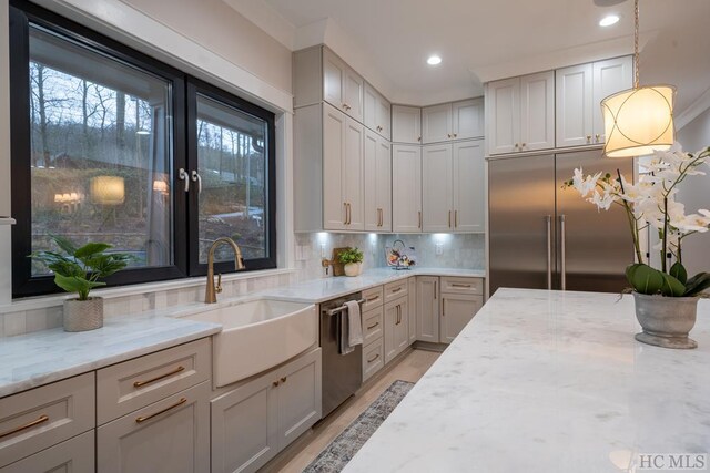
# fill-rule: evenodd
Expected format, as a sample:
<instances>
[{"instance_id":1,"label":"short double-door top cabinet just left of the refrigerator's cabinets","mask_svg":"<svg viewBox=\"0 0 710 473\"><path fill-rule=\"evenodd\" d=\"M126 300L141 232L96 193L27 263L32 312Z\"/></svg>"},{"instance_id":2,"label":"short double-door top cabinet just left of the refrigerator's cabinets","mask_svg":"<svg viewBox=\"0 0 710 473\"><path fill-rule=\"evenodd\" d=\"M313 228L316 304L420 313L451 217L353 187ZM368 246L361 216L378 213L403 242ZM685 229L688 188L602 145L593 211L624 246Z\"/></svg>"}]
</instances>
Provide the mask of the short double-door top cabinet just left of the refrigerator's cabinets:
<instances>
[{"instance_id":1,"label":"short double-door top cabinet just left of the refrigerator's cabinets","mask_svg":"<svg viewBox=\"0 0 710 473\"><path fill-rule=\"evenodd\" d=\"M483 137L483 135L484 102L481 99L422 109L424 144Z\"/></svg>"}]
</instances>

